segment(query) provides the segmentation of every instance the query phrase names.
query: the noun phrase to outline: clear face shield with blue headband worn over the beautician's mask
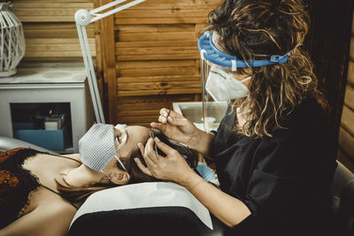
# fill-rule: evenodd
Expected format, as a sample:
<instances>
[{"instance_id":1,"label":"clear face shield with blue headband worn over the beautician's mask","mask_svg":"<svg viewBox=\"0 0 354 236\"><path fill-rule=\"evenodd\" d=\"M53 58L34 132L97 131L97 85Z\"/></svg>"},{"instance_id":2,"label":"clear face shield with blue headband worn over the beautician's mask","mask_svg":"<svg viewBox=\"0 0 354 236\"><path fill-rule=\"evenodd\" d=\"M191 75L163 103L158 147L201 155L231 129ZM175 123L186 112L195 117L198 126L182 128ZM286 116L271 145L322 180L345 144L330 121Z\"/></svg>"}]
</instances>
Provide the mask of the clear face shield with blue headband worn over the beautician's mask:
<instances>
[{"instance_id":1,"label":"clear face shield with blue headband worn over the beautician's mask","mask_svg":"<svg viewBox=\"0 0 354 236\"><path fill-rule=\"evenodd\" d=\"M228 105L235 99L249 94L248 88L242 83L250 80L236 80L230 72L239 67L256 67L263 65L282 64L288 60L289 53L284 56L271 56L270 60L254 60L245 62L237 57L220 51L214 44L213 33L206 32L198 40L201 55L202 98L204 130L216 130L219 122L227 113Z\"/></svg>"}]
</instances>

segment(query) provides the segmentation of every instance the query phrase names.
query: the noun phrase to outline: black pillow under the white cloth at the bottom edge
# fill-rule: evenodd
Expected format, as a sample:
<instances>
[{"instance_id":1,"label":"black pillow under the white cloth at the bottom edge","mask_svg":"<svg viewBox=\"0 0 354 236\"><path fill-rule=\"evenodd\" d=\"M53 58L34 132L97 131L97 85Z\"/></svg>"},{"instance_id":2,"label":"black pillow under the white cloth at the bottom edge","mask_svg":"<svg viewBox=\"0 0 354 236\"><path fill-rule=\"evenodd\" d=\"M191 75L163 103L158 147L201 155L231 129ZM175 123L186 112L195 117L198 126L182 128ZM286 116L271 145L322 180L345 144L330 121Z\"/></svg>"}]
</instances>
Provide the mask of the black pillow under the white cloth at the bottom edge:
<instances>
[{"instance_id":1,"label":"black pillow under the white cloth at the bottom edge","mask_svg":"<svg viewBox=\"0 0 354 236\"><path fill-rule=\"evenodd\" d=\"M196 214L184 207L116 209L84 214L69 230L69 236L199 236L212 232Z\"/></svg>"}]
</instances>

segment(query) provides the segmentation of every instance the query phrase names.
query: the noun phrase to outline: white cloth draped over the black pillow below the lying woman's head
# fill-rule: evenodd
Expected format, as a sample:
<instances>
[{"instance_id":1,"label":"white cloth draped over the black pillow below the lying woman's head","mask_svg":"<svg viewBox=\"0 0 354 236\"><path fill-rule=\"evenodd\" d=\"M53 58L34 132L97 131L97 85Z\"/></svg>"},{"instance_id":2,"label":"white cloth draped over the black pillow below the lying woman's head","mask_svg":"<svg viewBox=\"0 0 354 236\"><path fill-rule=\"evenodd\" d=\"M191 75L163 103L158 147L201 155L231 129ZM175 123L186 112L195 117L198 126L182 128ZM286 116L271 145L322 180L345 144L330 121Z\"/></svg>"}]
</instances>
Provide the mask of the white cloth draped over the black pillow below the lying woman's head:
<instances>
[{"instance_id":1,"label":"white cloth draped over the black pillow below the lying woman's head","mask_svg":"<svg viewBox=\"0 0 354 236\"><path fill-rule=\"evenodd\" d=\"M71 225L78 217L96 211L167 206L191 209L204 225L212 229L209 210L185 187L171 182L132 184L91 194L76 212Z\"/></svg>"}]
</instances>

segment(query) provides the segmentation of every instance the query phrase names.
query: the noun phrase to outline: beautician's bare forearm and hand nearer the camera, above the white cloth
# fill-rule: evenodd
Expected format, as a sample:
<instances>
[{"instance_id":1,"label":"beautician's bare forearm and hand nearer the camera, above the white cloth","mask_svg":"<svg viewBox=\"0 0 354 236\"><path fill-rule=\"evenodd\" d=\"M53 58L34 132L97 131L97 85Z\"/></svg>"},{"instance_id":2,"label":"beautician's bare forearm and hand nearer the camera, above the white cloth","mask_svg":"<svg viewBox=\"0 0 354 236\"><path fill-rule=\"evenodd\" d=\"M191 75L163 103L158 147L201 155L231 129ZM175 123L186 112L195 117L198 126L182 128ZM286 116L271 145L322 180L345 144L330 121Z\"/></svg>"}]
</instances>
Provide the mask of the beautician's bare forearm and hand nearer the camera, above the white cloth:
<instances>
[{"instance_id":1,"label":"beautician's bare forearm and hand nearer the camera, above the white cloth","mask_svg":"<svg viewBox=\"0 0 354 236\"><path fill-rule=\"evenodd\" d=\"M199 202L202 202L225 225L237 225L250 216L250 209L243 202L204 181L195 171L189 168L189 165L176 150L162 141L158 141L158 139L155 139L155 141L158 148L167 156L156 156L152 139L148 141L145 148L142 144L139 144L148 167L145 167L138 158L135 158L135 162L144 173L158 179L172 180L186 187L196 196Z\"/></svg>"}]
</instances>

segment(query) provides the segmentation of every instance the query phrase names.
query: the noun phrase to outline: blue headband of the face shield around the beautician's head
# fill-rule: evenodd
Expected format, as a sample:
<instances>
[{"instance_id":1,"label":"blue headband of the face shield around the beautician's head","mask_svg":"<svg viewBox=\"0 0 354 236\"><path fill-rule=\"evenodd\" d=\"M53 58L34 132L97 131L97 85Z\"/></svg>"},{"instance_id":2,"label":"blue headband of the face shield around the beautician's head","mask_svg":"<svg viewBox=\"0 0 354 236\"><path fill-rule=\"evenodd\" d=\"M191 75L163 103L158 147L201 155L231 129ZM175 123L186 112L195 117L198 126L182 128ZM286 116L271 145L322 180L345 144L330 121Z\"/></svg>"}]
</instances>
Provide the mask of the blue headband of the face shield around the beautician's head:
<instances>
[{"instance_id":1,"label":"blue headband of the face shield around the beautician's head","mask_svg":"<svg viewBox=\"0 0 354 236\"><path fill-rule=\"evenodd\" d=\"M287 54L272 55L269 60L253 60L253 61L242 61L235 56L228 55L220 51L212 42L212 32L207 32L201 36L198 40L198 49L201 53L201 57L212 62L213 64L233 68L233 71L237 67L257 67L263 65L273 65L273 64L283 64L288 61L290 52Z\"/></svg>"}]
</instances>

